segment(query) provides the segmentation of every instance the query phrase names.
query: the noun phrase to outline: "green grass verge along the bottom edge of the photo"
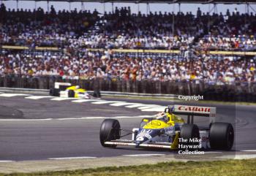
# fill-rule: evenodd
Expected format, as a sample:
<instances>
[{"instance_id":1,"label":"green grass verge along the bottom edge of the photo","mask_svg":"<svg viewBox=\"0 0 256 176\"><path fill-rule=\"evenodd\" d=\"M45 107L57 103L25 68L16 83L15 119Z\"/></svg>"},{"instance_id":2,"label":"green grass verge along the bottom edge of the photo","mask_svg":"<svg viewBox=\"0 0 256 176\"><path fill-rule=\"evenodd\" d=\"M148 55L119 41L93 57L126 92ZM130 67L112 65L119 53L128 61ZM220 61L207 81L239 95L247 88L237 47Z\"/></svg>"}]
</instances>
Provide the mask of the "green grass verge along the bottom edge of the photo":
<instances>
[{"instance_id":1,"label":"green grass verge along the bottom edge of the photo","mask_svg":"<svg viewBox=\"0 0 256 176\"><path fill-rule=\"evenodd\" d=\"M188 162L166 162L159 164L146 164L130 167L101 167L98 169L78 169L74 171L59 172L37 172L31 174L15 173L17 176L65 176L65 175L128 175L128 176L159 176L159 175L180 175L180 176L203 176L203 175L256 175L256 159L247 160L226 160L226 161L188 161Z\"/></svg>"}]
</instances>

